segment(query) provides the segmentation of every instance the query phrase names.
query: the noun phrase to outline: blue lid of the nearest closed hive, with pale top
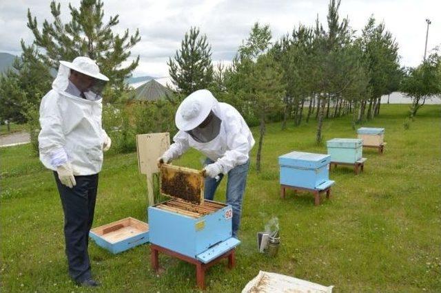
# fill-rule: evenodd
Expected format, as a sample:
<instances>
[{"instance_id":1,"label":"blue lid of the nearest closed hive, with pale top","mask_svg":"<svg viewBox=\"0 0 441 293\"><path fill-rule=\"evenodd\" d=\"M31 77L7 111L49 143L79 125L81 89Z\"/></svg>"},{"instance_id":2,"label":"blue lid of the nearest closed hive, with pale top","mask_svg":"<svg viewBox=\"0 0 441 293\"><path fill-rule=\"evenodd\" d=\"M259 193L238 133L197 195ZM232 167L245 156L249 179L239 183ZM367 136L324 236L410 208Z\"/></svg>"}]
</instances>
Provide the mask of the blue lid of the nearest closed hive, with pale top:
<instances>
[{"instance_id":1,"label":"blue lid of the nearest closed hive, with pale top","mask_svg":"<svg viewBox=\"0 0 441 293\"><path fill-rule=\"evenodd\" d=\"M294 168L318 169L329 164L331 160L330 155L322 153L303 153L300 151L293 151L278 157L278 162L281 166L292 166Z\"/></svg>"}]
</instances>

